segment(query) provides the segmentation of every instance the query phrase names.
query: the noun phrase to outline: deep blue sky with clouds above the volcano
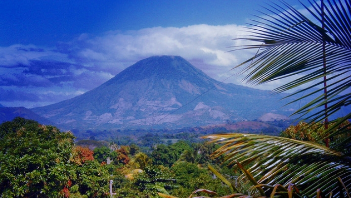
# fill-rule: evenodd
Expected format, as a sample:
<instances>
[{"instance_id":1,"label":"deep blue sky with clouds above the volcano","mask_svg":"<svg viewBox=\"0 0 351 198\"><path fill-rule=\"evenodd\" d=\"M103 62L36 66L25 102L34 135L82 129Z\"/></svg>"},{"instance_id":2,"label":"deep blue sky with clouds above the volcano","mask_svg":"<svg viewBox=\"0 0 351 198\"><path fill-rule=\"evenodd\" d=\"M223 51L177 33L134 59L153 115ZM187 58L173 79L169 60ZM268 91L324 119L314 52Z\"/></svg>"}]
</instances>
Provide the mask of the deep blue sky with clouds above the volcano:
<instances>
[{"instance_id":1,"label":"deep blue sky with clouds above the volcano","mask_svg":"<svg viewBox=\"0 0 351 198\"><path fill-rule=\"evenodd\" d=\"M302 8L298 0L286 1ZM232 39L267 3L2 0L0 104L32 108L70 99L152 55L180 55L222 81L251 55L227 47L240 44ZM225 83L246 85L241 79L233 76ZM270 90L280 83L256 88Z\"/></svg>"}]
</instances>

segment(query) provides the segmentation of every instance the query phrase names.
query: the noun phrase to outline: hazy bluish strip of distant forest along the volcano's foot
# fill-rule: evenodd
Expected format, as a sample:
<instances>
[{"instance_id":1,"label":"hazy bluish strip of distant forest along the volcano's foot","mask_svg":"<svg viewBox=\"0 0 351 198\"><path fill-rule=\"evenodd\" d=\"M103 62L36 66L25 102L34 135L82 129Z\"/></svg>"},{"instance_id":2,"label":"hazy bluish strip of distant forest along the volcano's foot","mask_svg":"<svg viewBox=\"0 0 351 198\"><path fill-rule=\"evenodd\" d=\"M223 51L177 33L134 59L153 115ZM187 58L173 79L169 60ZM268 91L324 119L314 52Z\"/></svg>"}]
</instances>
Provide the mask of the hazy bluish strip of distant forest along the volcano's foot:
<instances>
[{"instance_id":1,"label":"hazy bluish strip of distant forest along the volcano's foot","mask_svg":"<svg viewBox=\"0 0 351 198\"><path fill-rule=\"evenodd\" d=\"M70 130L77 141L81 140L107 140L119 145L135 143L150 147L154 144L167 143L186 139L190 142L198 142L199 137L216 133L251 133L278 136L281 131L290 125L297 124L294 120L274 121L240 121L227 120L220 125L203 127L186 127L180 129L72 129Z\"/></svg>"}]
</instances>

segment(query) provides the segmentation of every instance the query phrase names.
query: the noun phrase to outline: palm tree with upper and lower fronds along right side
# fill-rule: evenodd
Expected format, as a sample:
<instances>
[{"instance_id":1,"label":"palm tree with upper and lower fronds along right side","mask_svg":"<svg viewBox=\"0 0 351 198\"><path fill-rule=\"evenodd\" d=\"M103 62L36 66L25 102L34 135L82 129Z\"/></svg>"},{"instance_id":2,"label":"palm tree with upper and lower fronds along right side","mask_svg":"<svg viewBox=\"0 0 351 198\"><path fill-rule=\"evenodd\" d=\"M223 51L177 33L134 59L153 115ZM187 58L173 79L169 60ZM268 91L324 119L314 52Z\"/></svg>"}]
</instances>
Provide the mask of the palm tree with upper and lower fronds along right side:
<instances>
[{"instance_id":1,"label":"palm tree with upper and lower fronds along right side","mask_svg":"<svg viewBox=\"0 0 351 198\"><path fill-rule=\"evenodd\" d=\"M281 189L301 197L349 197L351 188L351 112L337 119L331 115L351 104L351 4L350 0L309 1L304 5L312 19L281 1L254 20L246 40L257 42L236 49L257 49L257 53L237 67L248 72L246 80L263 84L278 79L293 80L274 91L285 92L302 86L290 96L298 100L316 96L294 114L326 125L320 139L348 134L333 148L282 137L250 134L218 134L205 138L223 144L215 151L233 167L241 168L262 196ZM290 78L288 78L290 77ZM295 101L293 101L295 102ZM312 122L311 122L312 123ZM253 164L253 165L251 165ZM244 168L248 166L248 168ZM290 190L289 190L290 189ZM291 190L295 189L295 191ZM298 191L298 189L300 191ZM323 192L323 193L320 193Z\"/></svg>"}]
</instances>

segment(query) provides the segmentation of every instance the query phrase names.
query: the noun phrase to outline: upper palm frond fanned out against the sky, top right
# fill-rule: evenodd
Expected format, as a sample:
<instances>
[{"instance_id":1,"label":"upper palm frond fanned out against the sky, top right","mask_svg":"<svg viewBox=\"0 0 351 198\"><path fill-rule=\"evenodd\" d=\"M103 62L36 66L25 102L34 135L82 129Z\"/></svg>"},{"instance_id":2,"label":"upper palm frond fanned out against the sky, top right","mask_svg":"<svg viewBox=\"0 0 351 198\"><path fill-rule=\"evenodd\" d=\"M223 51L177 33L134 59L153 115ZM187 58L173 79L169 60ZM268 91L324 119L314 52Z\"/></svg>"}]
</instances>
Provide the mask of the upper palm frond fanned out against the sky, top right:
<instances>
[{"instance_id":1,"label":"upper palm frond fanned out against the sky, top right","mask_svg":"<svg viewBox=\"0 0 351 198\"><path fill-rule=\"evenodd\" d=\"M258 51L237 67L249 64L243 72L248 72L245 79L253 84L295 76L274 91L285 92L307 85L292 95L315 99L295 114L319 122L351 104L350 0L324 0L323 8L320 1L311 1L310 6L304 6L312 19L281 2L284 7L273 4L266 8L268 14L262 13L254 20L255 24L250 24L248 37L240 40L258 43L238 48ZM334 120L336 124L324 135L335 135L330 132L347 119L351 119L351 114Z\"/></svg>"}]
</instances>

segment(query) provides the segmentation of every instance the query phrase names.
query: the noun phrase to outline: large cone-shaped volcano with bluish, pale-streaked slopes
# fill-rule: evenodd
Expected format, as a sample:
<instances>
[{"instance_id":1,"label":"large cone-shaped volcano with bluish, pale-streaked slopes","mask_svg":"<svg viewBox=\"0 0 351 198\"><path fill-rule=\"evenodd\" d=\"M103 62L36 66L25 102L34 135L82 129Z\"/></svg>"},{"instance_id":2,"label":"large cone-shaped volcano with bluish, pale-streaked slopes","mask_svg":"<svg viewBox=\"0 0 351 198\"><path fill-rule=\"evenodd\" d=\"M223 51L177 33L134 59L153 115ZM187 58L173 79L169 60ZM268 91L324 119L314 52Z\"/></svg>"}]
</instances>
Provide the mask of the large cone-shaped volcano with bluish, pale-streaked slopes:
<instances>
[{"instance_id":1,"label":"large cone-shaped volcano with bluish, pale-streaked slopes","mask_svg":"<svg viewBox=\"0 0 351 198\"><path fill-rule=\"evenodd\" d=\"M32 110L65 129L182 128L288 116L286 95L219 83L180 56L140 60L101 86Z\"/></svg>"}]
</instances>

